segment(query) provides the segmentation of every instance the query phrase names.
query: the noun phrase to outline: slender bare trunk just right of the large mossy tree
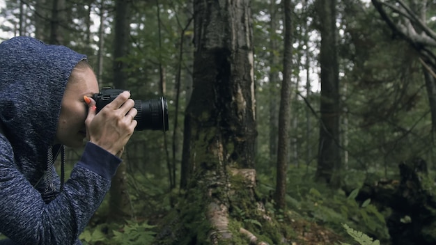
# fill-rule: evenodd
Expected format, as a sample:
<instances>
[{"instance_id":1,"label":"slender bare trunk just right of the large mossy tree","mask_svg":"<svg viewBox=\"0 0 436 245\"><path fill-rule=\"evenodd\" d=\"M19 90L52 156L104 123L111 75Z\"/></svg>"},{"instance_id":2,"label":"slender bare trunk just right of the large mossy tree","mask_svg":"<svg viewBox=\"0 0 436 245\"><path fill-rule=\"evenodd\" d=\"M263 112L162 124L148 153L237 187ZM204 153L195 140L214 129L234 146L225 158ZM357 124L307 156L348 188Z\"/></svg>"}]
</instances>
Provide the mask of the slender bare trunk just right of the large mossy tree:
<instances>
[{"instance_id":1,"label":"slender bare trunk just right of the large mossy tree","mask_svg":"<svg viewBox=\"0 0 436 245\"><path fill-rule=\"evenodd\" d=\"M281 83L280 109L279 109L279 143L277 150L277 183L274 200L276 206L284 210L286 206L286 173L289 152L289 127L290 127L290 102L291 99L291 74L293 68L293 8L290 0L283 1L284 12L284 54L283 54L283 81Z\"/></svg>"}]
</instances>

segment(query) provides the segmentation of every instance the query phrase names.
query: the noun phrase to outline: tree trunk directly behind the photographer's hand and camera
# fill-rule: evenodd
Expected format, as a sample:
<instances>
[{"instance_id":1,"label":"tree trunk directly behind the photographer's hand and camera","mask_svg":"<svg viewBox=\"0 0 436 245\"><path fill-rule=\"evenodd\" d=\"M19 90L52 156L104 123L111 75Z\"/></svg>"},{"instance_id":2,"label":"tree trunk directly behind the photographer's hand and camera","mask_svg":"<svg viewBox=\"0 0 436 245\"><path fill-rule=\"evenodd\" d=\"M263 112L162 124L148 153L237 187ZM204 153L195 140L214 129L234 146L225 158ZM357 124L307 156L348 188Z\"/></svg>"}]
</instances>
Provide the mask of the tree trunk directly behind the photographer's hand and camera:
<instances>
[{"instance_id":1,"label":"tree trunk directly behind the photographer's hand and camera","mask_svg":"<svg viewBox=\"0 0 436 245\"><path fill-rule=\"evenodd\" d=\"M120 58L127 56L129 47L130 2L117 0L115 13L115 42L114 42L114 87L125 88L127 75L123 70L125 64ZM116 175L112 179L109 190L109 219L123 220L132 216L130 197L127 192L127 166L125 161L118 166Z\"/></svg>"}]
</instances>

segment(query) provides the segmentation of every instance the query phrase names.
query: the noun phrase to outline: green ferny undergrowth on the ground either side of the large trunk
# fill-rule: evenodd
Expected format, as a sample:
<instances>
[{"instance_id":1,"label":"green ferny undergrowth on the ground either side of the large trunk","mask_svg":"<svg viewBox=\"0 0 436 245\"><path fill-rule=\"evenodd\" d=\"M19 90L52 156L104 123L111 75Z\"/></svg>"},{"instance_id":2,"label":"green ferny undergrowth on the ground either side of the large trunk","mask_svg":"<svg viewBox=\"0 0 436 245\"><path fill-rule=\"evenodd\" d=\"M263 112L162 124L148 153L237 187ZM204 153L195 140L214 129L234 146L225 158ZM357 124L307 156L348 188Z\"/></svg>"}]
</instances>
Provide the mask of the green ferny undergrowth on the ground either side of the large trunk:
<instances>
[{"instance_id":1,"label":"green ferny undergrowth on the ground either side of the large trunk","mask_svg":"<svg viewBox=\"0 0 436 245\"><path fill-rule=\"evenodd\" d=\"M389 209L380 211L371 199L357 200L359 187L364 182L362 173L348 173L344 184L352 191L345 193L314 182L311 178L314 171L306 166L289 169L286 212L274 209L271 198L274 175L258 173L256 194L263 198L267 214L279 222L283 244L390 244L385 222ZM372 173L372 176L378 174ZM130 219L108 221L105 200L80 235L81 241L84 244L153 244L158 225L173 208L178 191L159 188L165 186L162 179L148 180L148 184L140 186L130 192L135 211ZM244 210L240 210L240 214L243 215ZM246 222L256 224L251 219Z\"/></svg>"}]
</instances>

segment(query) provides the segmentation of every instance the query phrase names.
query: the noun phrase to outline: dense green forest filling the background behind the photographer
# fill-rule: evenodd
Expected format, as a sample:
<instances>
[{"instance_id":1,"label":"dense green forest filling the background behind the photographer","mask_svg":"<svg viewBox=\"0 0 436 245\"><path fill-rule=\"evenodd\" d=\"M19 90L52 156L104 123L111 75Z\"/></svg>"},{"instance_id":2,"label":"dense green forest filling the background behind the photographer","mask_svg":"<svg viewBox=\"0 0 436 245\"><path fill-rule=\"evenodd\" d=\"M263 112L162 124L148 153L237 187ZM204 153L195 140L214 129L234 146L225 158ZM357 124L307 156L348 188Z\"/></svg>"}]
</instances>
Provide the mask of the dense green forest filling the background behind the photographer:
<instances>
[{"instance_id":1,"label":"dense green forest filling the background behind the photographer","mask_svg":"<svg viewBox=\"0 0 436 245\"><path fill-rule=\"evenodd\" d=\"M0 11L1 40L66 45L88 55L100 88L168 100L169 131L135 132L84 244L436 244L436 1L5 0ZM240 106L255 116L238 120ZM204 159L238 172L233 189L215 183L240 198L220 203L225 224L195 188L216 172L192 164L211 134L231 154ZM79 155L68 150L71 166Z\"/></svg>"}]
</instances>

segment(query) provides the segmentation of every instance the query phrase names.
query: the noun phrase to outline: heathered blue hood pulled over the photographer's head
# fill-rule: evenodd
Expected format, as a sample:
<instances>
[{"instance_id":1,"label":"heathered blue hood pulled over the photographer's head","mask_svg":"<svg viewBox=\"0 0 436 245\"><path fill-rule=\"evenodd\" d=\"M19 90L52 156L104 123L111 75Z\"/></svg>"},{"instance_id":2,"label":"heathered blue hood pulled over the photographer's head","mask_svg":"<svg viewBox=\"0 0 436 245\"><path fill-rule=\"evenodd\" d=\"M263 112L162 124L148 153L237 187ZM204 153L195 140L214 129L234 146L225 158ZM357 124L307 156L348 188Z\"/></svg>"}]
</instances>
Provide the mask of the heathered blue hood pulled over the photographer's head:
<instances>
[{"instance_id":1,"label":"heathered blue hood pulled over the photographer's head","mask_svg":"<svg viewBox=\"0 0 436 245\"><path fill-rule=\"evenodd\" d=\"M28 175L46 168L54 143L65 86L72 69L86 59L68 47L15 37L0 44L0 120L17 166ZM30 164L29 164L30 163ZM38 171L36 171L38 172Z\"/></svg>"}]
</instances>

